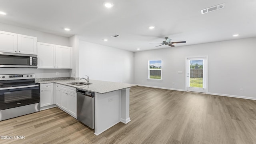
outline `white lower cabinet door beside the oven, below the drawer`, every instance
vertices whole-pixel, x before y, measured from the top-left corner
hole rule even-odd
[[[42,89],[40,93],[40,107],[49,106],[53,104],[52,88]]]

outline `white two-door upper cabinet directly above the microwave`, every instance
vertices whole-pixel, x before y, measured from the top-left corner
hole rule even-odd
[[[0,52],[37,54],[36,37],[0,31]]]

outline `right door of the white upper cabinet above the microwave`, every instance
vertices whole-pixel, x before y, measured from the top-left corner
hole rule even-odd
[[[36,37],[18,34],[18,53],[37,54]]]

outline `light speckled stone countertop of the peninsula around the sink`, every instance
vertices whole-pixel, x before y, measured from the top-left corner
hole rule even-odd
[[[119,82],[107,82],[107,81],[101,81],[101,80],[90,80],[89,85],[84,86],[76,86],[72,84],[67,84],[69,82],[86,82],[86,80],[48,80],[48,81],[37,81],[40,84],[48,84],[48,83],[57,83],[57,84],[63,84],[66,86],[72,86],[74,88],[81,88],[84,90],[88,90],[91,92],[97,92],[100,94],[104,94],[107,92],[113,92],[116,90],[121,90],[124,88],[130,88],[132,86],[137,86],[137,84],[126,84],[126,83],[119,83]]]

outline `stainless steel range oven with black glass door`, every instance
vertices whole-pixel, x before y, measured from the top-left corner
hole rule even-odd
[[[34,74],[0,75],[0,120],[40,110],[40,84]]]

